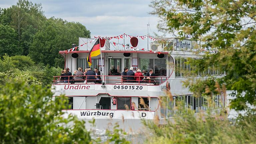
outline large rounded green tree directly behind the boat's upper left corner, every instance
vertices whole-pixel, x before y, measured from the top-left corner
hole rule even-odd
[[[50,66],[63,66],[64,59],[58,53],[71,48],[78,37],[90,37],[90,32],[80,23],[50,18],[36,33],[29,48],[29,56],[37,62]],[[55,60],[58,62],[56,63]]]

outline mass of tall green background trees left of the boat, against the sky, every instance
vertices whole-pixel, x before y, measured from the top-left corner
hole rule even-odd
[[[34,62],[64,68],[59,50],[90,37],[80,23],[44,16],[41,4],[19,0],[0,12],[0,56],[29,55]]]

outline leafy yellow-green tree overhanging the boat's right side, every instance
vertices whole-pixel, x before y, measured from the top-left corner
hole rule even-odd
[[[154,8],[152,14],[161,19],[160,30],[181,37],[189,34],[205,43],[205,47],[218,50],[217,54],[205,55],[203,61],[197,62],[197,67],[199,70],[208,69],[209,64],[225,67],[227,76],[216,81],[220,87],[236,92],[233,93],[236,98],[231,101],[231,108],[244,110],[248,108],[247,103],[256,105],[254,0],[155,0],[151,7]],[[213,84],[207,87],[216,89]],[[203,85],[201,92],[207,87]]]

